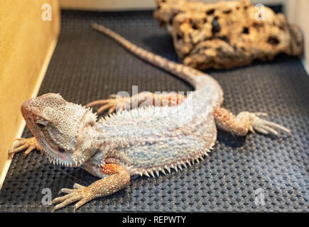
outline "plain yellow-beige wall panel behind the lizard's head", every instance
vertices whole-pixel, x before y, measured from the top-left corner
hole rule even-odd
[[[52,20],[43,21],[43,4]],[[35,96],[60,31],[58,0],[0,1],[0,176],[21,132],[23,101]],[[1,179],[0,179],[1,187]]]

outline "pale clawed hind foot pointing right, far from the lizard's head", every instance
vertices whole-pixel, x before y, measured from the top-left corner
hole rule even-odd
[[[286,133],[291,133],[288,128],[285,128],[277,123],[273,123],[271,121],[266,121],[259,116],[267,116],[266,113],[251,113],[251,129],[250,131],[257,131],[266,135],[276,135],[278,136],[278,132],[276,130],[281,130]]]

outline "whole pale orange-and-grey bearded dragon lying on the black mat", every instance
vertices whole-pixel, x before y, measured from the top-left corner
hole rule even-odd
[[[222,89],[210,75],[143,50],[104,26],[94,24],[93,28],[143,60],[190,82],[195,91],[188,96],[142,92],[87,106],[65,101],[59,94],[43,94],[23,102],[21,113],[34,137],[18,139],[9,153],[26,148],[26,154],[43,150],[54,164],[82,167],[101,178],[87,187],[74,184],[73,189],[61,189],[66,195],[53,199],[57,205],[52,211],[77,201],[75,211],[87,201],[113,194],[129,184],[131,175],[154,177],[199,162],[215,145],[216,125],[240,136],[249,131],[289,133],[287,128],[260,118],[264,113],[243,111],[234,116],[222,108]],[[141,107],[145,97],[150,102]],[[134,108],[134,102],[139,108]],[[96,104],[103,104],[98,112],[120,111],[97,121],[88,107]]]

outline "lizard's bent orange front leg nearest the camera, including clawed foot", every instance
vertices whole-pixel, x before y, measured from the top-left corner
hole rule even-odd
[[[76,209],[87,203],[87,201],[113,194],[126,187],[130,182],[129,172],[120,165],[106,164],[100,169],[100,172],[102,175],[109,176],[99,179],[88,187],[74,184],[74,189],[61,189],[59,193],[67,193],[67,195],[53,199],[52,204],[59,204],[52,209],[52,212],[74,201],[78,201],[74,206],[73,211],[75,212]]]

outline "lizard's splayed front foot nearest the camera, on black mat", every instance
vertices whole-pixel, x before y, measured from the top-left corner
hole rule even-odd
[[[87,203],[87,201],[94,199],[94,194],[92,193],[90,187],[85,187],[80,184],[74,184],[73,188],[74,189],[64,188],[59,191],[59,194],[66,193],[66,195],[53,199],[52,204],[57,205],[52,209],[52,212],[67,206],[67,204],[71,204],[72,202],[78,201],[73,209],[73,211],[75,212],[76,209],[78,209],[83,204]]]

